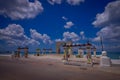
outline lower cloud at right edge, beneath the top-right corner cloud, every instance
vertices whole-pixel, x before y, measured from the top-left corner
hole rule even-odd
[[[94,38],[94,41],[99,41],[100,36],[107,42],[120,42],[120,26],[108,26],[102,28],[97,32],[97,37]]]

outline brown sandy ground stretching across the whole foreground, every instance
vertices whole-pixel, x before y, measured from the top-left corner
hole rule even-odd
[[[0,80],[120,80],[120,64],[102,68],[64,65],[62,55],[57,54],[0,56]]]

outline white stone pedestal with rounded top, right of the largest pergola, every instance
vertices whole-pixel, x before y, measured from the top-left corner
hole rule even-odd
[[[100,66],[104,67],[104,66],[111,66],[111,60],[109,57],[107,57],[107,52],[103,51],[102,52],[102,56],[100,58]]]

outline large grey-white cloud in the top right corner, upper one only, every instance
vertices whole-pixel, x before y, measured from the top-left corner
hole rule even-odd
[[[98,13],[92,23],[96,27],[108,25],[120,25],[120,0],[110,2],[103,13]]]

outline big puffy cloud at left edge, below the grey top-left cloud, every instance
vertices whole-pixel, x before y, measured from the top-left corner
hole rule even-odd
[[[0,40],[12,46],[27,46],[32,44],[39,45],[38,41],[30,39],[24,34],[24,28],[18,24],[9,24],[6,28],[0,29]]]

